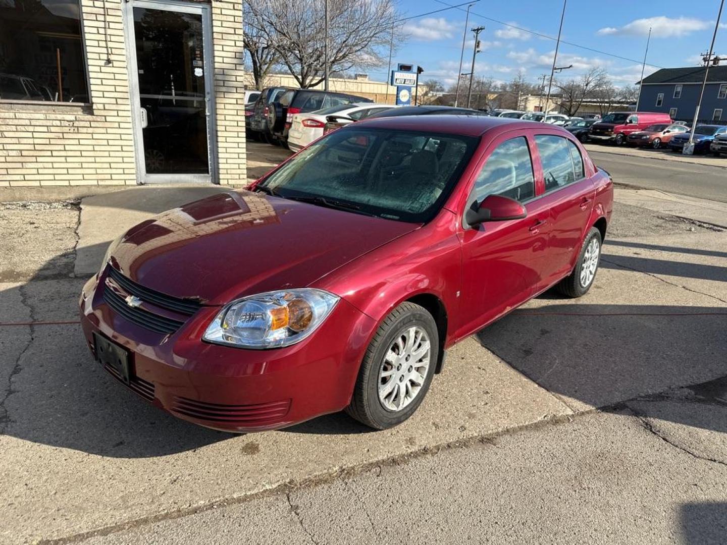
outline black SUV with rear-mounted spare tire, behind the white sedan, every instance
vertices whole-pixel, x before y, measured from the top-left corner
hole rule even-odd
[[[374,102],[355,94],[318,91],[317,89],[288,89],[268,109],[268,127],[278,142],[288,146],[288,133],[296,113],[308,113],[352,102]]]

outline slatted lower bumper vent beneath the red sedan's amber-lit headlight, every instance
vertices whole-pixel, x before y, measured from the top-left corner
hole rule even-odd
[[[258,427],[280,421],[290,409],[290,400],[256,405],[222,405],[204,403],[188,397],[175,397],[172,411],[194,419]]]

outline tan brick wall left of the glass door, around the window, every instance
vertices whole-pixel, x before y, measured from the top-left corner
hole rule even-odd
[[[81,0],[92,111],[79,105],[0,103],[0,187],[135,184],[121,2]]]

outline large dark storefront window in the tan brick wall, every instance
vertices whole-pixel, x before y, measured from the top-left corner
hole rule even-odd
[[[0,100],[89,102],[79,0],[0,0]]]

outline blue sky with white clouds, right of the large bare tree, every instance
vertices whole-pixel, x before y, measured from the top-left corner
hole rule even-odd
[[[463,0],[444,0],[459,4]],[[688,9],[689,6],[699,9]],[[400,0],[404,16],[419,15],[447,7],[437,0]],[[469,28],[483,25],[483,52],[477,56],[476,76],[489,76],[509,81],[518,70],[535,83],[542,74],[550,74],[555,40],[518,31],[483,17],[510,23],[520,28],[558,35],[562,0],[480,0],[470,9]],[[455,81],[465,27],[466,5],[448,9],[405,23],[406,38],[395,52],[396,62],[413,62],[425,69],[422,79],[437,78],[448,84]],[[563,23],[564,41],[572,42],[619,57],[604,55],[563,44],[558,52],[558,65],[574,65],[563,71],[563,78],[579,76],[592,66],[602,66],[616,85],[638,81],[646,35],[651,26],[651,45],[646,73],[657,67],[675,68],[699,65],[699,54],[707,52],[719,9],[719,0],[686,2],[684,0],[569,0]],[[715,52],[727,55],[727,13],[717,36]],[[468,32],[465,63],[462,72],[470,71],[472,33]],[[369,71],[372,79],[385,78],[386,68]]]

